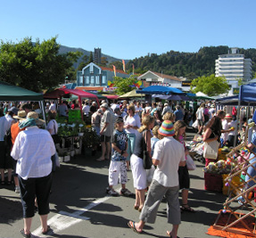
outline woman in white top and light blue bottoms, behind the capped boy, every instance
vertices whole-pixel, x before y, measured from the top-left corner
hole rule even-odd
[[[132,155],[136,142],[136,135],[138,135],[137,129],[140,127],[140,118],[135,113],[134,104],[128,105],[128,115],[125,117],[124,128],[128,134],[128,158],[127,158],[127,169],[129,169],[129,160]]]

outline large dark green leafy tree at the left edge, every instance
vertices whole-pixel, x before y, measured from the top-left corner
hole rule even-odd
[[[18,44],[1,41],[0,80],[40,92],[65,81],[79,53],[59,54],[56,37],[39,43],[24,38]]]

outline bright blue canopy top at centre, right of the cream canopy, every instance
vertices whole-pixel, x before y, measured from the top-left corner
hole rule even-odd
[[[137,94],[185,94],[180,89],[170,86],[147,86],[136,90]]]

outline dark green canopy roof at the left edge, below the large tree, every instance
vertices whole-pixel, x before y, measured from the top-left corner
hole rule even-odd
[[[43,99],[43,94],[0,81],[0,101],[41,101]]]

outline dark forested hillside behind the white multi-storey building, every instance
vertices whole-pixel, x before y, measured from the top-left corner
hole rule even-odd
[[[127,64],[127,69],[135,72],[144,73],[147,70],[162,72],[163,74],[174,75],[177,77],[197,78],[203,75],[215,73],[215,60],[219,54],[228,53],[228,46],[202,47],[198,53],[179,53],[169,51],[167,53],[151,53],[145,57],[136,58]],[[256,49],[239,48],[239,53],[243,53],[245,58],[252,59],[252,75],[256,72]]]

